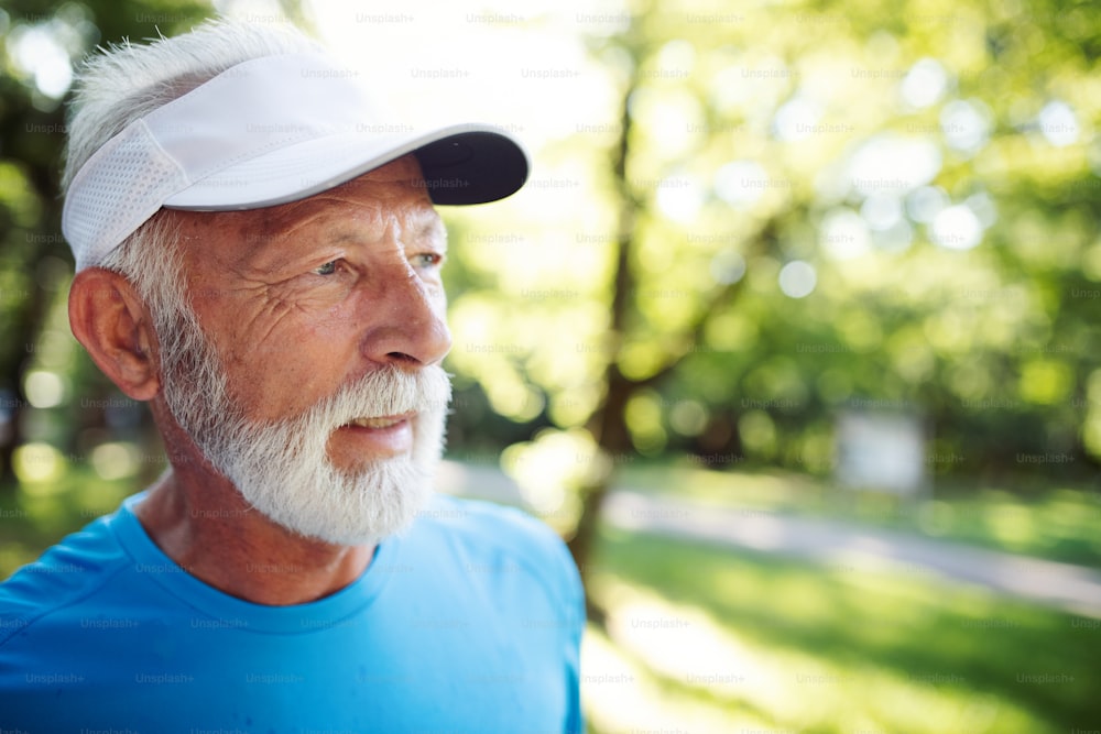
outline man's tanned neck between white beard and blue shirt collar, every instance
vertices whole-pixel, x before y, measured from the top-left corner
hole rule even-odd
[[[333,545],[276,525],[198,456],[174,458],[135,512],[153,543],[188,573],[257,604],[328,596],[358,579],[374,552],[371,546]]]

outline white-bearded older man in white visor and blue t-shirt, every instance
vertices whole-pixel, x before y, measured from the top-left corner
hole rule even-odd
[[[408,132],[294,33],[212,23],[83,73],[69,318],[171,468],[0,585],[0,728],[577,732],[584,604],[517,511],[434,495],[435,205],[504,132]]]

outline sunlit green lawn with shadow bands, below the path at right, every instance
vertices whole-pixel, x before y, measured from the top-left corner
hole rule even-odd
[[[592,573],[596,732],[1101,730],[1099,620],[611,528]]]

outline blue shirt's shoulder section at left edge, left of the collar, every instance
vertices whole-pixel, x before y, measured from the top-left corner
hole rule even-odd
[[[67,536],[0,583],[0,647],[51,614],[95,594],[126,568],[126,555],[101,517]]]

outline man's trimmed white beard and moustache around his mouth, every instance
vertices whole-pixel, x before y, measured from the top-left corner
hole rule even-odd
[[[244,500],[274,523],[338,545],[373,545],[406,529],[432,495],[451,386],[439,366],[383,368],[305,413],[246,420],[220,360],[192,315],[163,346],[164,397],[176,423]],[[356,418],[415,412],[413,450],[340,471],[327,443]]]

